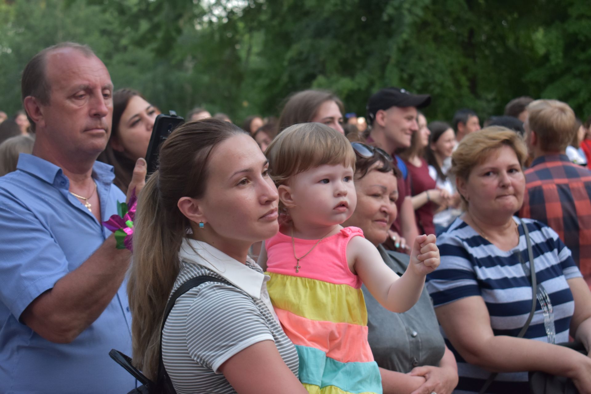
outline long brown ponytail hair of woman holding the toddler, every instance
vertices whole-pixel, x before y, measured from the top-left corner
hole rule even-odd
[[[158,171],[139,194],[127,291],[133,315],[132,358],[151,379],[157,374],[164,308],[179,271],[178,250],[190,230],[178,200],[203,196],[210,152],[241,133],[246,132],[216,119],[184,123],[161,146]]]

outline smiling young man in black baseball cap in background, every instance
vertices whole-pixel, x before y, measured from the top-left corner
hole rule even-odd
[[[400,237],[411,245],[418,235],[413,200],[411,198],[410,176],[404,162],[395,156],[399,148],[408,148],[413,133],[418,131],[417,108],[424,108],[431,103],[429,95],[413,95],[399,87],[387,87],[369,97],[367,121],[369,134],[367,142],[381,146],[395,157],[402,177],[398,179],[398,216],[392,224],[392,240],[395,248],[407,252]],[[399,249],[400,248],[400,249]]]

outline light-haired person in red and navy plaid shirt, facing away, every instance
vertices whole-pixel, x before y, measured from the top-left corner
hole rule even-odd
[[[525,171],[519,216],[552,227],[591,286],[591,171],[565,154],[577,132],[574,112],[557,100],[535,100],[527,110],[524,129],[534,161]]]

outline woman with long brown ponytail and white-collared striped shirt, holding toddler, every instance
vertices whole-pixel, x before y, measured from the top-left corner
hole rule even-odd
[[[178,394],[306,393],[298,357],[268,298],[268,277],[247,256],[278,231],[277,189],[248,133],[205,119],[179,126],[139,194],[128,282],[133,359],[157,375],[158,354]],[[180,298],[160,327],[170,294]],[[256,360],[253,362],[253,360]]]

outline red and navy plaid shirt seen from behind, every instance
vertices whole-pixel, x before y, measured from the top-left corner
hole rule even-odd
[[[519,216],[540,220],[556,231],[591,285],[591,171],[566,155],[536,158],[525,171]]]

